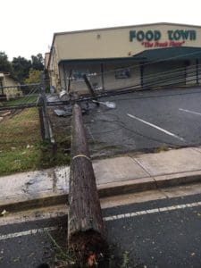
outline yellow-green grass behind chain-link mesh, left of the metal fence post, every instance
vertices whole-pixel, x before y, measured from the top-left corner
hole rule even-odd
[[[41,142],[38,108],[0,112],[0,174],[35,169]]]

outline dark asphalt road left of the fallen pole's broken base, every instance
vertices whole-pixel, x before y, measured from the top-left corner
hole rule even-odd
[[[0,267],[37,268],[53,263],[59,253],[53,239],[64,248],[66,237],[66,217],[0,226]]]

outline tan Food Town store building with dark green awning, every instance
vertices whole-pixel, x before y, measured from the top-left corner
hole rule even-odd
[[[201,82],[201,27],[174,23],[55,33],[46,64],[57,90],[159,88]]]

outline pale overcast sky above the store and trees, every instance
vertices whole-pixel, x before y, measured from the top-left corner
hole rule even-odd
[[[198,0],[2,0],[0,51],[45,54],[54,32],[174,22],[201,26]]]

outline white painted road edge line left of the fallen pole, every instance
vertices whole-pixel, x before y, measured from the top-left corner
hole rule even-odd
[[[15,239],[23,236],[28,236],[28,235],[33,235],[33,234],[38,234],[42,232],[48,232],[52,230],[57,230],[58,227],[46,227],[46,228],[40,228],[40,229],[32,229],[32,230],[24,230],[24,231],[19,231],[19,232],[13,232],[13,233],[8,233],[5,235],[0,235],[0,241],[5,240],[5,239]]]

